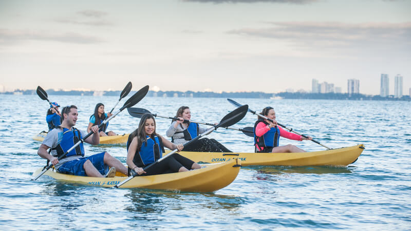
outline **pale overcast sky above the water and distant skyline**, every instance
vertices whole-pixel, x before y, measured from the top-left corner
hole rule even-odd
[[[411,88],[410,0],[0,0],[0,91]]]

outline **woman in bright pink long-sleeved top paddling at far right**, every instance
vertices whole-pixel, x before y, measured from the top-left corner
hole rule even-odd
[[[264,108],[260,114],[273,120],[274,122],[258,117],[258,120],[254,124],[255,152],[305,152],[303,149],[291,144],[279,146],[279,137],[299,141],[312,140],[311,137],[306,139],[300,135],[278,127],[277,121],[275,121],[275,111],[272,107]]]

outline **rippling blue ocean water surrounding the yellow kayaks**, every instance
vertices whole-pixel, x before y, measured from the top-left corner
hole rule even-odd
[[[97,103],[109,111],[118,97],[49,95],[60,105],[79,107],[77,128],[86,129]],[[229,186],[208,194],[83,186],[41,177],[45,165],[32,137],[47,129],[48,103],[37,95],[1,95],[0,227],[3,230],[101,229],[354,229],[409,230],[411,227],[411,103],[387,101],[233,99],[260,111],[273,106],[277,121],[332,147],[364,144],[347,167],[242,167]],[[117,109],[123,105],[120,102]],[[174,116],[190,106],[192,119],[214,123],[235,109],[226,99],[144,98],[142,107]],[[255,115],[233,127],[253,126]],[[158,118],[164,135],[170,120]],[[129,133],[138,119],[123,111],[109,130]],[[252,152],[252,138],[218,129],[209,138],[233,151]],[[282,138],[307,151],[325,148]],[[125,162],[124,145],[91,146],[86,155],[108,151]]]

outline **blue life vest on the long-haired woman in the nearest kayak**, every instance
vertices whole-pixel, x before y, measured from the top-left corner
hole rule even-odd
[[[146,136],[147,142],[141,145],[140,151],[136,150],[133,162],[137,167],[147,166],[163,156],[163,143],[157,136],[154,136],[154,140],[149,136]],[[127,151],[130,142],[127,142]]]

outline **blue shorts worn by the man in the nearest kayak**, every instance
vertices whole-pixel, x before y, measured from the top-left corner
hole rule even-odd
[[[91,163],[97,168],[101,175],[106,174],[108,171],[108,165],[104,164],[104,152],[89,156],[89,157],[82,157],[77,160],[68,161],[62,164],[58,171],[63,174],[69,175],[76,175],[76,176],[84,176],[86,177],[86,171],[83,168],[84,163],[87,160],[90,160]]]

